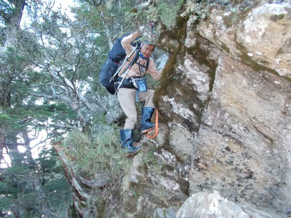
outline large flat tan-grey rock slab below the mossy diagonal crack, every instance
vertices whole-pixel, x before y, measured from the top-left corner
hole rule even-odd
[[[198,131],[190,193],[215,189],[238,202],[290,210],[289,86],[221,57]]]

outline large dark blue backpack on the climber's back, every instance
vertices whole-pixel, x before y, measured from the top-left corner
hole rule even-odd
[[[117,76],[114,79],[111,79],[115,72],[118,70],[119,66],[123,63],[124,59],[126,58],[126,52],[121,45],[121,40],[131,34],[128,32],[121,37],[118,37],[115,41],[113,47],[108,52],[108,58],[106,62],[102,65],[99,73],[99,82],[106,88],[106,90],[111,93],[115,94],[114,82],[117,80]],[[135,40],[139,39],[137,37]],[[136,42],[133,40],[131,42],[131,46],[136,47]],[[137,44],[137,47],[140,46],[140,43]],[[146,66],[147,69],[148,66]]]

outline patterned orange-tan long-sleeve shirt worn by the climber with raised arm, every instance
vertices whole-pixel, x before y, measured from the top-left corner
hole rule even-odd
[[[124,48],[124,50],[126,51],[126,55],[127,57],[129,56],[129,54],[132,52],[132,50],[134,49],[133,46],[130,45],[130,43],[138,36],[137,32],[131,33],[128,36],[125,36],[122,41],[121,41],[121,45]],[[125,74],[127,67],[129,65],[129,63],[131,62],[131,60],[134,58],[135,53],[131,55],[131,57],[129,58],[128,63],[126,63],[122,69],[120,70],[118,76],[120,77],[123,72]],[[139,59],[137,60],[138,63],[140,63],[141,65],[146,66],[147,60],[143,60],[142,58],[139,57]],[[127,75],[125,78],[129,78],[129,77],[142,77],[145,75],[145,72],[140,72],[140,69],[144,68],[139,66],[137,63],[134,63],[131,68],[129,69]],[[146,68],[144,68],[145,70]],[[155,65],[154,60],[150,57],[149,58],[149,64],[148,64],[148,68],[146,73],[149,73],[151,75],[151,77],[154,80],[159,80],[162,77],[162,70],[158,71]],[[142,74],[142,75],[141,75]],[[122,75],[121,77],[124,77],[124,75]]]

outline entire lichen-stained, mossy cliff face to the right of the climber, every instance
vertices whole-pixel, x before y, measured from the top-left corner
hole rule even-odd
[[[175,52],[155,96],[163,125],[124,179],[127,217],[211,217],[202,198],[223,205],[212,217],[291,214],[291,3],[209,9],[164,34]]]

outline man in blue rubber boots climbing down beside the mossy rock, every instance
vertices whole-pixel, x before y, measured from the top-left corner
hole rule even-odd
[[[139,36],[139,32],[136,31],[122,39],[121,45],[126,51],[127,56],[129,56],[129,54],[135,49],[135,47],[130,45],[130,43]],[[151,123],[151,117],[155,110],[153,104],[153,95],[155,91],[147,89],[144,78],[146,73],[149,73],[156,81],[162,76],[162,69],[158,71],[154,60],[150,57],[154,49],[154,41],[142,42],[140,50],[136,51],[139,53],[137,55],[131,55],[129,58],[129,62],[135,58],[134,63],[131,66],[124,65],[122,67],[118,74],[119,78],[115,84],[120,106],[127,116],[124,129],[120,130],[120,140],[123,149],[127,149],[129,154],[134,154],[141,149],[140,146],[134,147],[132,145],[133,128],[137,122],[135,101],[145,102],[145,105],[142,108],[141,117],[142,134],[146,134],[155,127],[155,124]]]

